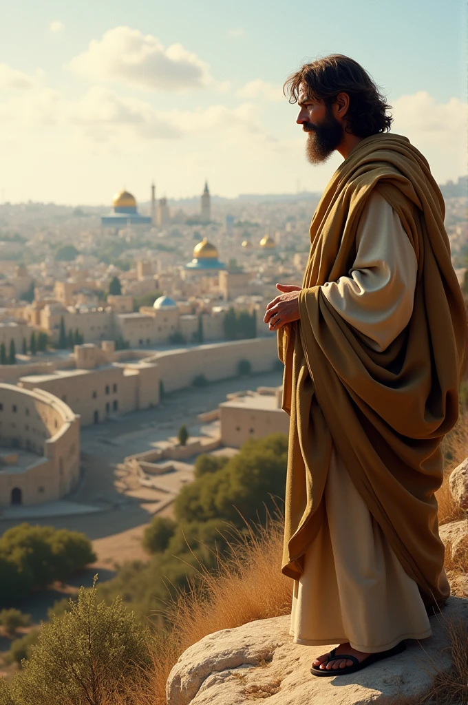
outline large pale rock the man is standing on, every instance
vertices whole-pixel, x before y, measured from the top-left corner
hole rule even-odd
[[[293,644],[290,616],[257,620],[214,632],[190,646],[171,670],[168,705],[245,705],[269,699],[269,705],[388,704],[402,692],[420,696],[431,687],[433,667],[450,668],[447,621],[468,620],[468,600],[450,597],[441,613],[429,618],[433,636],[350,675],[316,678],[314,657],[328,646]]]

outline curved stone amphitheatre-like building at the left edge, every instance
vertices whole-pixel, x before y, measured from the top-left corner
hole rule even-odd
[[[0,507],[67,494],[80,474],[80,417],[42,389],[0,384]]]

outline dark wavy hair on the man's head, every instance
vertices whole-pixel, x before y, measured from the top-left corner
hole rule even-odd
[[[367,71],[348,56],[331,54],[304,63],[283,85],[283,93],[290,103],[297,103],[301,92],[327,106],[335,102],[338,93],[347,93],[350,97],[345,116],[347,133],[369,137],[390,130],[393,118],[387,111],[391,105],[386,103],[386,97]]]

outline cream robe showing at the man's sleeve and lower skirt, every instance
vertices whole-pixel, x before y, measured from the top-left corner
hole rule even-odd
[[[322,290],[367,345],[382,351],[410,320],[417,259],[400,217],[377,192],[359,219],[356,245],[350,276]],[[293,584],[293,641],[350,642],[373,653],[402,639],[430,637],[416,582],[403,570],[335,448],[323,501],[324,524]]]

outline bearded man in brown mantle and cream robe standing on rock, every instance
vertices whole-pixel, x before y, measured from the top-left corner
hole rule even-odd
[[[422,154],[388,133],[390,106],[366,71],[327,56],[285,90],[309,161],[344,158],[312,219],[302,287],[277,284],[264,317],[290,414],[290,634],[340,642],[311,672],[341,675],[430,637],[450,594],[434,492],[467,317],[441,192]]]

